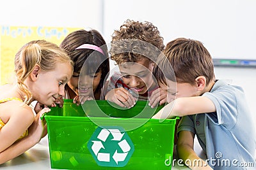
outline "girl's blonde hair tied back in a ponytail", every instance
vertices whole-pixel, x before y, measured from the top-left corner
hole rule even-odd
[[[24,92],[24,103],[27,104],[32,97],[24,81],[36,64],[40,66],[42,71],[52,71],[56,69],[58,63],[63,62],[71,64],[73,68],[73,62],[65,50],[45,40],[31,41],[20,48],[15,55],[15,73],[17,85]]]

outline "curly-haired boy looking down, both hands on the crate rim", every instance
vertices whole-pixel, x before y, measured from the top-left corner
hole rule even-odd
[[[152,70],[163,50],[163,38],[150,22],[127,20],[113,33],[111,59],[120,73],[109,81],[106,99],[124,108],[131,108],[136,100],[149,100],[154,108],[166,102],[166,92],[159,89]]]

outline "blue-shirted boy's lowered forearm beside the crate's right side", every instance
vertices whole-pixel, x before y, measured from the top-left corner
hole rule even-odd
[[[194,138],[195,134],[193,132],[179,132],[177,142],[177,153],[179,158],[182,159],[190,169],[212,169],[204,160],[200,159],[193,150]]]

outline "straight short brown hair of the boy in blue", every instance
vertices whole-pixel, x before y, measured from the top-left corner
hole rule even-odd
[[[198,76],[205,76],[206,85],[215,80],[212,57],[200,41],[177,38],[166,45],[163,54],[153,71],[159,83],[166,84],[165,78],[173,81],[173,72],[177,83],[194,85]]]

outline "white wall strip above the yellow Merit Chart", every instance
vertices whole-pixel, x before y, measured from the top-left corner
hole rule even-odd
[[[102,32],[102,1],[1,1],[0,25],[84,27]]]

